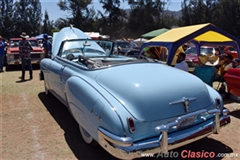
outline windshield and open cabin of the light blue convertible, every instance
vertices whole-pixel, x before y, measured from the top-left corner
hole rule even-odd
[[[109,47],[110,51],[108,53]],[[64,61],[71,61],[88,70],[104,69],[130,63],[156,63],[146,58],[138,59],[136,57],[112,54],[113,47],[113,41],[93,39],[65,40],[61,43],[57,57],[64,59]]]

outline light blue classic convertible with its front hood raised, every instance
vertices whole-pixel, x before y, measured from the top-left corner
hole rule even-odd
[[[66,105],[87,144],[134,159],[167,153],[230,123],[221,96],[196,76],[113,49],[114,42],[65,27],[53,36],[51,58],[40,63],[46,95]]]

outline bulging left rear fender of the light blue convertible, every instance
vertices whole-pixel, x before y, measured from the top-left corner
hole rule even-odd
[[[99,126],[114,128],[115,131],[111,130],[114,133],[123,133],[121,118],[92,83],[73,76],[67,80],[65,90],[71,114],[96,141]]]

